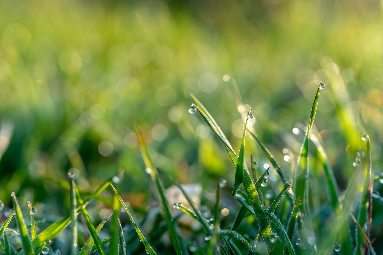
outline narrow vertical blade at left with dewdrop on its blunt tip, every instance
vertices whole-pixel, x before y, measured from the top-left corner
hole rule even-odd
[[[68,174],[69,185],[70,185],[70,248],[71,254],[74,255],[77,253],[78,245],[78,231],[77,231],[77,199],[76,199],[76,189],[74,184],[74,175],[72,173]]]

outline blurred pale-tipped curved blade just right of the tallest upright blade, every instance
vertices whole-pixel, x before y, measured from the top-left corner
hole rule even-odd
[[[313,134],[310,134],[310,140],[313,142],[314,149],[316,151],[316,158],[323,165],[324,173],[326,175],[326,184],[330,191],[329,193],[331,205],[332,208],[335,208],[336,204],[338,203],[339,189],[334,177],[334,171],[332,171],[326,152],[324,152],[324,149],[319,143],[318,138]]]

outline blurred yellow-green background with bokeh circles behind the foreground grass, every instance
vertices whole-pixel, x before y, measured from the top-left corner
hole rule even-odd
[[[3,212],[15,191],[21,204],[31,200],[40,203],[40,212],[66,215],[67,191],[55,181],[76,172],[79,187],[92,191],[121,168],[123,194],[146,206],[156,193],[148,191],[153,185],[136,124],[162,173],[182,183],[210,180],[202,181],[205,190],[220,176],[232,186],[234,168],[224,147],[197,114],[188,113],[190,93],[236,151],[240,113],[251,106],[254,130],[291,176],[303,141],[292,129],[307,124],[322,81],[314,132],[340,190],[347,187],[364,133],[371,137],[373,173],[379,175],[381,10],[379,1],[359,0],[1,1]],[[234,99],[234,79],[244,105]],[[250,140],[246,160],[252,152],[263,167],[267,160]],[[321,199],[321,180],[311,180]],[[372,237],[382,237],[381,227],[373,228]]]

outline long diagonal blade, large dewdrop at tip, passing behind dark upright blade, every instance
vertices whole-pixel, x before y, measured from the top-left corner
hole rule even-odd
[[[237,167],[238,157],[235,154],[234,150],[231,148],[231,145],[229,145],[229,142],[223,138],[224,137],[223,134],[221,134],[221,132],[217,132],[218,130],[220,130],[220,128],[214,124],[211,125],[211,123],[213,123],[211,119],[203,111],[201,111],[201,109],[198,106],[195,106],[195,107],[196,107],[196,110],[198,110],[198,112],[201,114],[203,119],[206,121],[206,123],[209,124],[211,129],[218,136],[218,138],[221,139],[221,141],[225,144],[226,149],[228,150],[229,155],[234,163],[234,166]],[[207,110],[205,111],[207,112]],[[244,176],[243,176],[242,183],[244,184],[246,192],[249,195],[249,198],[250,198],[252,206],[254,207],[254,210],[257,212],[255,214],[255,218],[257,219],[260,230],[262,232],[262,237],[266,244],[267,252],[275,253],[276,252],[275,245],[269,240],[269,237],[271,235],[270,225],[268,224],[268,220],[266,218],[265,212],[260,204],[259,195],[257,190],[255,189],[254,183],[251,181],[251,178],[245,169],[244,169]]]

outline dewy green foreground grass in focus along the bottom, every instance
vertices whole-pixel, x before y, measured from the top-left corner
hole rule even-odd
[[[150,224],[149,229],[145,219],[134,216],[132,208],[129,209],[127,202],[121,197],[121,185],[129,184],[123,181],[123,170],[116,173],[106,180],[93,193],[87,194],[87,199],[82,198],[84,192],[77,188],[75,175],[69,173],[69,185],[66,187],[70,194],[70,214],[67,217],[53,222],[50,226],[41,230],[41,219],[36,220],[36,209],[32,208],[28,201],[30,221],[26,221],[23,212],[18,203],[15,193],[11,194],[13,199],[14,211],[4,221],[0,229],[1,250],[0,254],[18,254],[27,255],[39,254],[58,254],[59,251],[49,251],[49,246],[54,242],[57,235],[64,233],[67,227],[70,228],[70,242],[68,244],[70,254],[90,254],[97,251],[99,254],[129,254],[141,253],[145,248],[148,254],[162,254],[165,250],[175,252],[176,254],[376,254],[373,247],[373,200],[381,199],[379,195],[373,193],[374,178],[372,175],[372,151],[370,137],[363,135],[365,149],[360,151],[360,158],[354,163],[354,170],[350,177],[348,188],[343,192],[339,191],[334,172],[325,153],[324,147],[318,141],[318,138],[311,132],[314,125],[314,118],[318,107],[319,95],[322,90],[320,83],[317,93],[314,96],[313,107],[311,108],[310,118],[308,120],[307,131],[304,134],[300,154],[296,160],[295,173],[293,176],[285,173],[276,158],[272,155],[267,146],[259,139],[254,131],[248,127],[249,119],[254,118],[252,110],[247,112],[244,119],[244,131],[242,135],[239,152],[236,154],[232,145],[224,135],[222,129],[213,119],[206,107],[193,95],[194,103],[190,107],[190,113],[198,112],[217,139],[222,142],[228,152],[228,157],[232,160],[233,169],[235,169],[234,180],[224,180],[220,178],[216,181],[215,200],[211,201],[211,208],[214,216],[205,215],[183,185],[172,176],[161,175],[155,167],[149,149],[147,148],[144,133],[140,127],[136,127],[136,135],[141,148],[141,154],[145,165],[145,171],[150,175],[153,184],[148,187],[155,187],[160,196],[163,214],[157,215],[157,223]],[[237,97],[238,98],[238,97]],[[248,132],[247,132],[248,131]],[[250,136],[246,136],[249,133]],[[271,178],[270,167],[259,172],[257,163],[251,154],[250,169],[246,167],[245,160],[245,141],[246,138],[253,138],[255,144],[259,145],[260,152],[268,159],[275,171],[273,175],[278,178]],[[313,147],[311,149],[310,147]],[[364,153],[364,154],[363,154]],[[317,199],[313,196],[310,188],[314,173],[313,163],[316,162],[322,167],[324,173],[322,179],[318,180],[327,187],[326,199],[319,204],[321,208],[316,208]],[[144,170],[142,170],[144,171]],[[250,177],[252,172],[253,179]],[[256,179],[256,177],[259,178]],[[166,195],[166,189],[162,179],[169,178],[171,182],[178,187],[180,192],[187,200],[188,205],[176,203],[173,208],[179,211],[171,211],[168,203],[169,197]],[[381,177],[380,177],[381,178]],[[115,182],[117,189],[111,183]],[[269,180],[269,181],[267,181]],[[376,178],[375,178],[376,180]],[[232,188],[226,183],[233,183]],[[243,189],[241,188],[243,185]],[[65,185],[64,185],[65,186]],[[114,211],[110,212],[102,222],[96,227],[92,222],[89,213],[89,204],[99,198],[103,191],[111,186],[113,201],[111,204]],[[282,188],[280,188],[282,187]],[[236,217],[229,221],[223,219],[221,210],[222,199],[228,188],[232,189],[232,196],[238,202],[234,212]],[[277,196],[267,195],[265,190],[277,191]],[[374,196],[373,196],[374,194]],[[226,194],[227,195],[227,194]],[[119,202],[119,203],[117,203]],[[271,203],[270,203],[271,202]],[[284,209],[281,208],[282,207]],[[92,204],[94,206],[94,204]],[[190,208],[188,208],[190,206]],[[124,214],[120,208],[126,212],[130,223],[121,224]],[[227,209],[227,208],[226,208]],[[231,209],[232,210],[232,209]],[[326,213],[325,213],[326,212]],[[353,215],[357,213],[358,217]],[[151,209],[141,212],[145,217],[152,213]],[[181,214],[186,214],[195,222],[198,222],[197,228],[191,229],[187,226],[181,226]],[[233,214],[233,212],[231,212]],[[83,227],[80,229],[78,223],[79,215],[82,215]],[[15,217],[14,217],[15,216]],[[108,221],[112,218],[112,222]],[[379,216],[378,216],[379,219]],[[380,218],[380,221],[383,219]],[[16,222],[16,227],[10,228],[10,224]],[[108,224],[108,222],[110,222]],[[111,226],[110,226],[111,225]],[[144,225],[146,227],[144,227]],[[320,227],[320,226],[325,227]],[[85,227],[86,226],[86,227]],[[133,226],[133,229],[128,226]],[[366,227],[362,227],[366,226]],[[377,226],[377,225],[375,225]],[[110,227],[110,230],[105,228]],[[128,227],[128,229],[126,229]],[[180,229],[183,229],[181,231]],[[354,229],[354,233],[352,229]],[[136,234],[134,234],[133,232]],[[188,234],[184,234],[187,231]],[[79,247],[81,238],[79,234],[90,233],[90,236],[82,240],[82,247]],[[13,239],[13,233],[18,234],[18,239]],[[101,240],[100,234],[107,235]],[[158,239],[169,236],[168,247],[159,245]],[[192,238],[191,238],[192,237]],[[203,238],[201,238],[203,237]],[[201,241],[205,239],[205,241]],[[138,244],[135,240],[140,240]],[[65,248],[64,248],[65,250]]]

